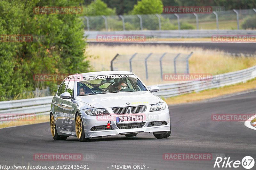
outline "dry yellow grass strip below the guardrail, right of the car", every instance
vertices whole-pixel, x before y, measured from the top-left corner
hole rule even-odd
[[[227,95],[227,94],[241,92],[244,90],[255,89],[255,88],[256,88],[256,79],[253,79],[245,83],[238,83],[235,85],[225,86],[218,89],[209,89],[209,90],[204,90],[196,93],[189,93],[181,96],[174,96],[174,97],[164,99],[164,101],[167,104],[188,103],[188,102],[209,99],[213,97],[218,97],[222,95]]]

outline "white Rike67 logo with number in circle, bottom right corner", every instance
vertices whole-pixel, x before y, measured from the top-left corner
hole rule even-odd
[[[223,161],[223,162],[222,162]],[[245,156],[242,161],[240,160],[230,160],[230,157],[225,157],[224,159],[221,157],[217,157],[214,163],[214,168],[238,168],[239,166],[243,166],[245,169],[251,169],[254,166],[254,159],[251,156]]]

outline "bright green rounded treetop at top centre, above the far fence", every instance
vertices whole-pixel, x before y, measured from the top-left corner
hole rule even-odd
[[[163,3],[161,0],[141,0],[134,5],[132,13],[136,14],[161,14],[163,12]]]

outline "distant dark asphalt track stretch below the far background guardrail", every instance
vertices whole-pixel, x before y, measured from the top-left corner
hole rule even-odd
[[[89,44],[100,44],[107,46],[116,45],[167,45],[167,46],[184,46],[184,47],[200,47],[203,49],[221,50],[226,53],[244,53],[244,54],[255,54],[256,43],[213,43],[213,42],[141,42],[141,43],[127,43],[127,42],[90,42]]]

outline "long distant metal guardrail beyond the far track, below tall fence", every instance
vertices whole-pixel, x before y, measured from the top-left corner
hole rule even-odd
[[[154,41],[168,38],[211,38],[212,35],[255,35],[256,30],[135,30],[135,31],[84,31],[84,37],[95,39],[97,35],[145,35]],[[96,42],[104,42],[97,41]],[[125,41],[122,41],[125,42]],[[130,41],[132,42],[132,41]],[[144,42],[150,42],[146,40]]]

